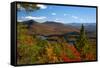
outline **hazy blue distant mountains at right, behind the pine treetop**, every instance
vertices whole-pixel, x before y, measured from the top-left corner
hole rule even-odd
[[[68,23],[65,25],[73,26],[74,28],[81,28],[82,23]],[[96,39],[96,23],[83,23],[85,32],[89,38]]]

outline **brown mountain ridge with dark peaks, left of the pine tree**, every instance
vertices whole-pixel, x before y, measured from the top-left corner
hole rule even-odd
[[[73,26],[65,26],[60,22],[46,21],[44,23],[38,23],[34,20],[25,21],[23,23],[27,23],[31,25],[31,31],[33,33],[39,35],[52,35],[52,34],[64,34],[67,32],[79,32],[77,28]]]

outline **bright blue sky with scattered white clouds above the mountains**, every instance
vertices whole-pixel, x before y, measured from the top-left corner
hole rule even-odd
[[[96,8],[37,4],[39,10],[17,11],[17,21],[55,21],[60,23],[96,23]]]

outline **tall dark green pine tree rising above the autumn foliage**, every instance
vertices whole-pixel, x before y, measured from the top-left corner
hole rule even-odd
[[[80,29],[79,38],[76,41],[75,47],[80,52],[82,58],[85,58],[86,54],[89,52],[89,41],[85,33],[84,25],[82,24]]]

